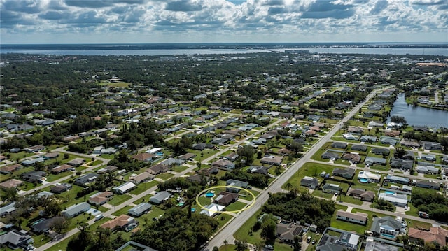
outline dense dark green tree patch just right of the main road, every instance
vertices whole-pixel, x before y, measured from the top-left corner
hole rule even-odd
[[[301,194],[269,194],[267,203],[262,206],[263,213],[280,216],[292,222],[316,224],[318,231],[330,226],[332,214],[335,213],[334,201],[318,199],[308,192]]]

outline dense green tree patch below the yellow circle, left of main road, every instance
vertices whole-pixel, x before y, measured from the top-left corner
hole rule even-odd
[[[169,208],[159,220],[148,224],[132,237],[133,241],[148,245],[155,250],[200,250],[218,227],[214,218],[188,213],[181,208]]]

